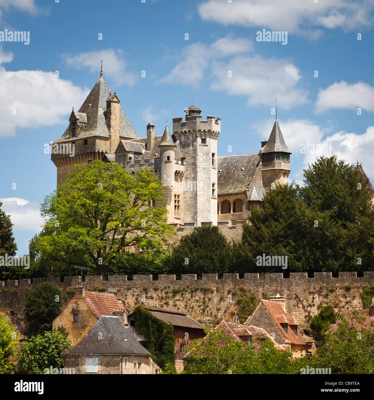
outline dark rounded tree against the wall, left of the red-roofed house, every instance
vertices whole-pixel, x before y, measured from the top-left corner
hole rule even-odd
[[[62,308],[62,292],[56,285],[43,282],[32,288],[25,298],[26,335],[52,330],[52,322]]]

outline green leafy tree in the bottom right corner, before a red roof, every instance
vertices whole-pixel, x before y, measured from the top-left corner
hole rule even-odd
[[[368,374],[374,370],[374,321],[370,330],[364,324],[362,311],[352,311],[348,320],[341,318],[336,331],[324,336],[325,345],[316,349],[310,359],[302,360],[304,368],[331,368],[332,374]],[[356,329],[357,328],[357,329]]]

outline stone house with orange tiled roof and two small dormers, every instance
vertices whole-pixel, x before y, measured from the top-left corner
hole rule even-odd
[[[312,343],[304,340],[298,330],[299,324],[286,312],[284,296],[277,294],[270,297],[270,300],[260,300],[244,325],[252,324],[266,330],[278,344],[290,346],[292,356],[312,354]]]

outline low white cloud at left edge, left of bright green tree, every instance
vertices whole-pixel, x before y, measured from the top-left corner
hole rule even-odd
[[[36,202],[29,202],[20,197],[1,198],[0,202],[3,203],[2,210],[6,215],[10,215],[12,221],[13,231],[19,230],[35,230],[40,232],[44,220],[40,215],[40,204]]]

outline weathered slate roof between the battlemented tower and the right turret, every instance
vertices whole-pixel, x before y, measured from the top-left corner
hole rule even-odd
[[[243,193],[246,184],[251,183],[256,176],[260,164],[260,154],[239,154],[237,156],[218,157],[218,196]],[[242,171],[242,168],[244,170]]]

